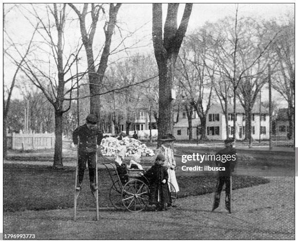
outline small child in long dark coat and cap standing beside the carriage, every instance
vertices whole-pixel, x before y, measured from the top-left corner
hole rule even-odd
[[[149,180],[150,195],[149,203],[155,204],[156,210],[164,211],[170,202],[168,189],[168,169],[164,166],[165,156],[159,154],[154,165],[144,175]]]

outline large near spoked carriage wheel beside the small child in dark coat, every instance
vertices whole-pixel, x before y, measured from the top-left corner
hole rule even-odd
[[[122,190],[122,203],[131,212],[144,210],[149,203],[149,188],[141,180],[132,179]]]

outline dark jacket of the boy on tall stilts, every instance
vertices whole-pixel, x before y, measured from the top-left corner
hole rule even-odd
[[[97,139],[96,139],[97,137]],[[96,126],[95,128],[89,129],[87,124],[79,126],[73,132],[74,144],[79,143],[79,152],[92,153],[96,151],[96,145],[100,146],[101,140],[103,138],[102,132]]]

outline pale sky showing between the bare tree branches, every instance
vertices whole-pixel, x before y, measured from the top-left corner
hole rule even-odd
[[[79,9],[82,4],[75,4]],[[181,19],[185,4],[180,4],[178,19]],[[5,10],[10,9],[12,4],[5,4]],[[26,8],[28,4],[24,4]],[[38,7],[42,9],[44,5],[39,4]],[[234,3],[195,3],[191,17],[189,20],[187,33],[199,28],[208,22],[215,22],[226,16],[234,16],[236,11],[236,4]],[[29,21],[22,16],[24,9],[19,4],[19,8],[13,8],[5,17],[5,30],[13,39],[17,39],[20,43],[26,43],[33,31],[33,27]],[[68,26],[66,26],[65,44],[66,49],[71,51],[75,47],[74,40],[80,36],[78,21],[73,10],[67,6],[68,18],[73,19]],[[41,17],[45,17],[45,12],[38,11]],[[163,4],[163,19],[166,18],[167,4]],[[261,19],[281,19],[285,15],[294,15],[294,3],[240,3],[239,4],[239,17],[254,17],[261,21]],[[129,32],[133,32],[126,41],[126,46],[131,46],[135,42],[138,42],[134,49],[129,52],[118,52],[110,57],[110,61],[115,61],[122,56],[132,55],[133,53],[153,53],[153,47],[151,43],[151,23],[152,18],[152,4],[151,3],[123,3],[121,6],[117,20],[119,26],[122,28],[123,35],[127,35]],[[30,17],[30,20],[34,22],[34,18]],[[103,45],[103,21],[98,22],[97,31],[94,36],[94,52],[99,51]],[[4,35],[5,38],[5,35]],[[112,37],[112,48],[121,40],[120,35],[114,35]],[[82,58],[85,58],[85,53],[82,52]],[[14,66],[9,63],[9,60],[4,58],[4,74],[5,84],[9,84],[12,76]],[[265,90],[264,90],[265,91]],[[18,97],[19,91],[16,89],[13,97]]]

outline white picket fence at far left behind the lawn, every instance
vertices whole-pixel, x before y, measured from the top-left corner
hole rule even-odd
[[[51,149],[55,146],[54,133],[8,134],[9,149]]]

